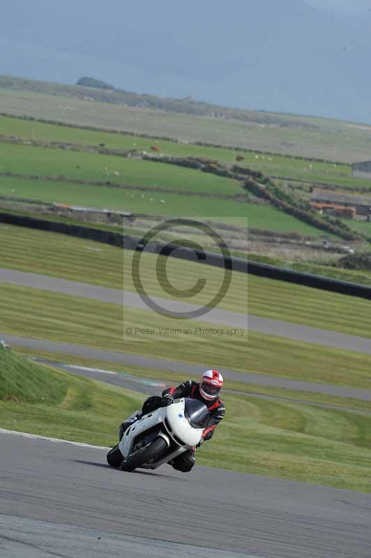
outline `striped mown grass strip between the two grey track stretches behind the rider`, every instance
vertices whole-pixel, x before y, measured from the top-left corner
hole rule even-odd
[[[0,303],[0,331],[4,333],[174,361],[218,363],[221,368],[241,372],[371,387],[371,359],[365,354],[253,332],[248,338],[195,332],[196,326],[208,328],[207,322],[194,322],[190,333],[164,333],[160,327],[179,328],[179,320],[128,307],[123,316],[123,309],[114,304],[6,283],[1,285]],[[130,326],[132,334],[123,338],[123,326]],[[148,327],[153,333],[135,334],[136,327]]]

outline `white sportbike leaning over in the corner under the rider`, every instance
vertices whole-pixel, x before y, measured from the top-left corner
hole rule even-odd
[[[135,420],[119,444],[109,450],[107,462],[123,471],[157,469],[197,446],[208,420],[209,410],[201,401],[176,399]]]

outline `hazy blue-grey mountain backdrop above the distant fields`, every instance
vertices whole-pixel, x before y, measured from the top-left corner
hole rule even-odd
[[[363,122],[369,37],[370,14],[334,16],[303,0],[189,0],[181,15],[171,0],[13,0],[1,13],[1,71]]]

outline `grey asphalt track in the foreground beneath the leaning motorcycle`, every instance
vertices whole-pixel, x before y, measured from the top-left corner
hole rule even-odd
[[[0,434],[1,558],[370,558],[371,497]],[[218,552],[220,551],[220,552]]]

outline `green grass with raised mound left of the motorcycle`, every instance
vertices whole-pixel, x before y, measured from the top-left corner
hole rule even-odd
[[[7,351],[8,353],[8,351]],[[0,395],[3,428],[33,432],[93,444],[113,444],[124,416],[139,407],[143,396],[134,391],[80,379],[72,374],[31,364],[23,357],[0,349],[0,369],[8,396]],[[24,370],[32,385],[24,380]],[[17,387],[22,384],[22,393]],[[33,384],[38,386],[38,391]],[[50,386],[58,392],[50,398]]]

